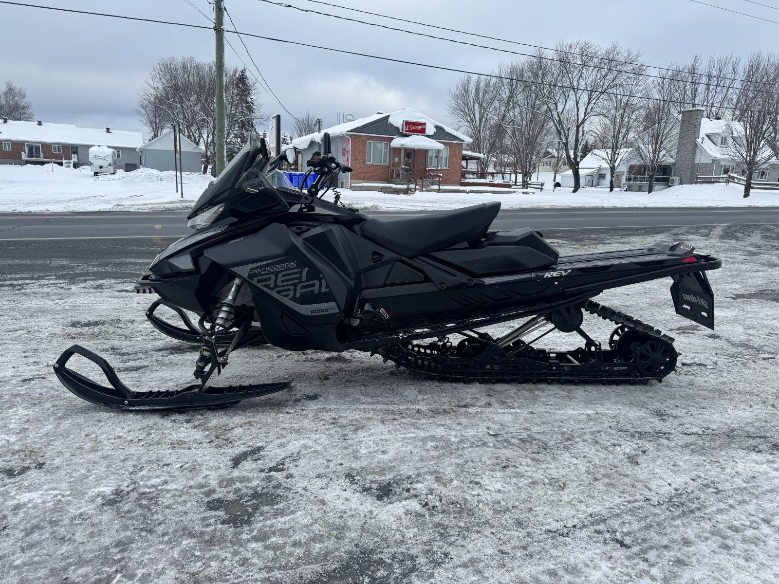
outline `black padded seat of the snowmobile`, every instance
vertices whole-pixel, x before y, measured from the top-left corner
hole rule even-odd
[[[371,241],[414,258],[461,241],[484,237],[499,210],[499,202],[483,202],[481,205],[407,219],[370,217],[362,223],[361,230]]]

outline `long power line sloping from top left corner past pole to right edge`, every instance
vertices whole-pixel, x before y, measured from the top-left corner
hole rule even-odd
[[[693,0],[695,2],[695,0]],[[106,12],[90,12],[86,10],[76,10],[76,9],[65,9],[65,8],[56,8],[54,6],[42,6],[37,4],[26,4],[23,2],[10,2],[9,0],[0,0],[0,4],[9,4],[14,6],[26,6],[30,8],[39,8],[39,9],[46,9],[46,10],[56,10],[58,12],[72,12],[76,14],[87,14],[90,16],[105,16],[108,18],[118,18],[118,19],[125,19],[125,20],[137,20],[139,22],[147,22],[147,23],[157,23],[157,24],[170,24],[172,26],[185,26],[187,28],[196,28],[199,30],[210,30],[213,31],[213,27],[211,26],[201,26],[198,24],[191,24],[191,23],[177,23],[177,22],[171,22],[169,20],[157,20],[157,19],[149,19],[149,18],[142,18],[140,16],[122,16],[118,14],[108,14]],[[260,34],[254,34],[254,33],[238,33],[238,31],[232,31],[227,30],[225,32],[228,33],[236,33],[236,34],[242,34],[246,37],[252,37],[252,38],[259,38],[263,40],[271,40],[276,43],[284,43],[284,44],[293,44],[298,47],[307,47],[307,48],[315,48],[319,51],[330,51],[333,53],[340,53],[342,55],[353,55],[356,57],[365,57],[365,58],[373,58],[377,59],[379,61],[386,61],[386,62],[393,62],[393,63],[400,63],[402,65],[414,65],[417,67],[424,67],[425,69],[436,69],[439,71],[448,71],[448,72],[455,72],[455,73],[465,73],[466,75],[474,75],[474,76],[480,76],[480,77],[489,77],[492,79],[505,79],[507,81],[521,81],[523,83],[530,83],[531,85],[543,85],[548,87],[557,87],[559,89],[566,89],[566,90],[576,90],[576,91],[590,91],[583,89],[582,87],[577,86],[569,86],[569,85],[563,85],[563,84],[557,84],[557,83],[546,83],[542,81],[536,81],[535,79],[523,79],[523,78],[516,78],[516,77],[506,77],[501,75],[496,75],[495,73],[482,73],[482,72],[476,72],[476,71],[467,71],[466,69],[456,69],[454,67],[445,67],[443,65],[430,65],[429,63],[419,63],[414,61],[405,61],[404,59],[397,59],[397,58],[391,58],[391,57],[382,57],[380,55],[365,55],[365,53],[358,53],[356,51],[347,51],[345,49],[337,49],[332,47],[321,47],[316,44],[308,44],[308,43],[301,43],[298,40],[288,40],[288,39],[280,39],[280,38],[274,38],[274,37],[264,37]],[[639,95],[629,95],[627,93],[616,93],[613,91],[601,91],[601,95],[613,95],[616,97],[630,97],[633,99],[640,99],[640,100],[649,100],[649,101],[657,101],[667,104],[676,104],[681,106],[688,105],[687,102],[679,101],[679,100],[668,100],[664,99],[663,97],[649,97],[649,96],[639,96]],[[700,107],[709,107],[714,109],[714,106],[711,104],[700,104]],[[742,111],[742,112],[751,112],[751,113],[765,113],[770,114],[771,112],[767,111],[759,111],[759,110],[739,110],[737,107],[732,106],[721,106],[721,109],[724,110],[733,110],[733,111]]]

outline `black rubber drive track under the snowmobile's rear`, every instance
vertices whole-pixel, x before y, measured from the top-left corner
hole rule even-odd
[[[465,357],[449,357],[439,354],[436,343],[427,346],[414,345],[413,343],[393,343],[381,347],[376,351],[385,360],[393,361],[397,367],[403,366],[428,378],[436,378],[443,381],[462,382],[649,382],[652,379],[662,381],[666,375],[674,371],[678,354],[672,343],[671,336],[663,334],[659,329],[641,322],[614,308],[608,308],[594,301],[585,301],[576,304],[577,307],[599,316],[617,325],[626,327],[626,330],[634,330],[646,336],[650,341],[654,339],[661,349],[668,350],[668,361],[662,371],[657,375],[646,375],[639,371],[635,357],[629,362],[604,361],[569,363],[564,361],[548,363],[543,362],[547,355],[572,355],[591,356],[597,351],[577,349],[573,351],[541,351],[538,359],[505,359],[495,357],[492,360],[480,361],[479,357],[467,359]],[[444,343],[437,343],[444,348]],[[645,346],[648,343],[644,343]],[[615,351],[604,349],[601,355],[611,357]]]

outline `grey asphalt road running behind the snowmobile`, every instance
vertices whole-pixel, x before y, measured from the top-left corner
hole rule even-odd
[[[388,219],[430,211],[375,211]],[[622,209],[506,209],[496,229],[597,229],[779,225],[779,207],[694,207]],[[0,213],[0,241],[85,237],[182,237],[191,234],[185,213]]]

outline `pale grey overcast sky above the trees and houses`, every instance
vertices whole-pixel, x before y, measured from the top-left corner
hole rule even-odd
[[[211,16],[206,0],[191,0]],[[331,12],[389,26],[425,30],[387,19],[369,17],[306,0],[284,0],[305,9]],[[552,46],[560,38],[586,38],[608,44],[618,40],[643,52],[647,63],[668,65],[704,56],[770,49],[777,24],[689,2],[689,0],[384,0],[358,2],[336,0],[340,5],[435,23],[492,37]],[[95,12],[208,24],[184,0],[134,0],[104,2],[80,0],[38,4],[67,6]],[[711,0],[729,9],[777,19],[779,12],[744,0]],[[442,40],[382,30],[317,14],[270,5],[259,0],[225,0],[238,30],[300,40],[325,47],[372,55],[402,58],[485,72],[512,55],[465,47]],[[773,12],[773,13],[772,13]],[[229,26],[229,21],[227,21]],[[42,9],[0,5],[0,83],[5,79],[23,88],[38,118],[61,123],[126,130],[142,130],[132,113],[136,97],[150,66],[168,55],[213,58],[213,34],[153,23],[139,23]],[[428,32],[509,50],[527,51],[513,44],[474,39],[441,30]],[[227,35],[249,64],[234,35]],[[340,55],[312,48],[294,47],[269,40],[245,38],[249,51],[273,91],[294,114],[312,111],[325,125],[336,123],[338,112],[355,117],[376,110],[414,107],[430,117],[447,121],[446,92],[457,79],[452,72]],[[241,61],[226,47],[226,61]],[[259,92],[266,113],[280,107],[264,91]],[[288,117],[283,117],[288,126]]]

